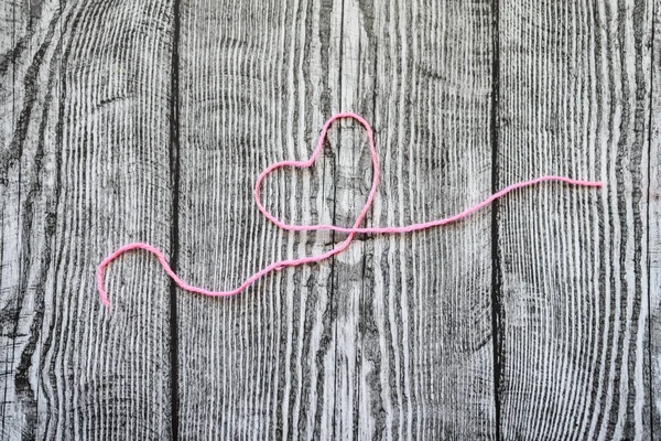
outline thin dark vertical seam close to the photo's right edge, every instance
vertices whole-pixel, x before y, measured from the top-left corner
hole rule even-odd
[[[654,439],[654,389],[652,385],[652,251],[651,251],[651,237],[650,237],[650,204],[651,204],[651,190],[652,190],[652,115],[654,111],[654,53],[657,52],[657,39],[655,39],[655,29],[657,29],[657,1],[652,2],[652,20],[651,20],[651,51],[650,54],[650,108],[649,108],[649,120],[648,120],[648,195],[647,195],[647,226],[646,232],[648,235],[648,247],[647,247],[647,297],[648,297],[648,390],[650,397],[650,439]]]

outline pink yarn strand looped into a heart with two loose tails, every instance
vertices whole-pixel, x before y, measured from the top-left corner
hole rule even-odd
[[[292,168],[296,168],[296,169],[310,168],[316,160],[317,155],[322,152],[322,149],[324,146],[324,139],[326,138],[326,132],[328,131],[328,128],[330,127],[333,121],[340,119],[340,118],[353,118],[353,119],[357,120],[358,122],[360,122],[362,125],[362,127],[365,127],[365,130],[367,131],[367,138],[369,141],[369,153],[371,155],[372,170],[373,170],[372,184],[371,184],[371,189],[369,191],[369,195],[367,196],[367,201],[366,201],[365,205],[362,206],[362,209],[360,209],[360,214],[358,215],[358,217],[356,217],[356,222],[354,223],[354,226],[350,228],[345,228],[345,227],[338,227],[335,225],[291,225],[291,224],[285,224],[281,220],[279,220],[275,216],[273,216],[271,213],[269,213],[267,211],[267,208],[262,205],[262,203],[259,198],[259,192],[260,192],[262,181],[270,173],[272,173],[274,170],[280,169],[280,168],[284,168],[284,166],[292,166]],[[97,288],[99,291],[99,295],[101,298],[101,303],[105,304],[106,306],[110,306],[110,302],[108,301],[108,293],[106,292],[106,289],[104,288],[104,271],[105,271],[106,267],[112,260],[115,260],[119,256],[121,256],[122,254],[133,250],[133,249],[143,249],[143,250],[149,251],[149,252],[153,254],[154,256],[156,256],[156,258],[161,262],[161,266],[163,267],[163,269],[165,270],[167,276],[170,276],[172,278],[172,280],[174,280],[174,282],[183,290],[186,290],[189,292],[196,292],[198,294],[209,295],[209,297],[235,295],[235,294],[238,294],[239,292],[243,291],[246,288],[248,288],[250,284],[252,284],[256,280],[262,278],[263,276],[268,275],[271,271],[279,271],[283,268],[297,267],[300,265],[305,265],[305,263],[319,262],[322,260],[326,260],[326,259],[344,251],[351,244],[351,240],[354,240],[354,236],[356,236],[356,234],[358,234],[358,233],[364,233],[364,234],[404,234],[404,233],[418,232],[421,229],[426,229],[426,228],[432,228],[432,227],[437,227],[441,225],[449,224],[449,223],[459,220],[464,217],[467,217],[467,216],[474,214],[475,212],[484,208],[485,206],[489,205],[491,202],[496,201],[497,198],[502,197],[506,194],[508,194],[517,189],[522,189],[525,186],[534,185],[540,182],[559,181],[559,182],[564,182],[564,183],[572,184],[572,185],[581,185],[581,186],[589,186],[589,187],[599,187],[603,185],[602,182],[579,181],[579,180],[573,180],[573,179],[568,179],[568,178],[563,178],[563,176],[552,176],[552,175],[551,176],[542,176],[542,178],[537,178],[537,179],[533,179],[530,181],[519,182],[519,183],[509,185],[509,186],[500,190],[498,193],[495,193],[491,196],[487,197],[479,204],[477,204],[468,209],[465,209],[462,213],[455,214],[449,217],[445,217],[443,219],[424,222],[421,224],[412,224],[412,225],[407,225],[403,227],[361,228],[360,224],[362,223],[365,216],[367,215],[367,212],[371,207],[371,204],[375,200],[375,195],[377,193],[378,181],[379,181],[379,161],[378,161],[378,157],[377,157],[377,150],[375,148],[375,140],[373,140],[371,128],[369,127],[369,125],[367,123],[367,121],[364,118],[361,118],[360,116],[358,116],[356,114],[343,112],[343,114],[334,115],[324,125],[322,132],[319,135],[319,139],[317,141],[317,146],[316,146],[314,152],[312,153],[312,155],[310,157],[310,159],[306,161],[282,161],[282,162],[277,162],[272,165],[269,165],[264,171],[262,171],[259,174],[259,176],[257,176],[257,182],[254,183],[253,196],[254,196],[254,202],[257,203],[257,207],[259,208],[259,211],[269,220],[271,220],[273,224],[275,224],[277,226],[279,226],[282,229],[292,230],[292,232],[334,230],[334,232],[339,232],[339,233],[346,233],[347,234],[346,239],[344,239],[342,243],[336,245],[335,248],[330,249],[329,251],[323,252],[317,256],[308,256],[308,257],[302,257],[299,259],[288,259],[288,260],[281,260],[281,261],[273,262],[273,263],[269,265],[268,267],[257,271],[256,273],[250,276],[248,279],[246,279],[246,281],[243,281],[243,283],[241,283],[238,288],[230,290],[230,291],[209,291],[204,288],[194,287],[192,284],[188,284],[188,283],[184,282],[182,279],[180,279],[174,273],[172,268],[170,268],[170,265],[167,265],[165,257],[158,248],[154,248],[151,245],[142,244],[142,243],[128,244],[128,245],[124,245],[123,247],[118,248],[115,252],[112,252],[111,255],[106,257],[98,266],[96,281],[97,281]]]

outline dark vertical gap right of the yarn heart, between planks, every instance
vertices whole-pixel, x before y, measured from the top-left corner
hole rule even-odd
[[[499,41],[499,1],[491,1],[491,193],[498,191],[498,110],[500,98],[500,41]],[[502,295],[500,273],[500,252],[498,249],[498,201],[495,201],[491,208],[491,343],[494,354],[494,408],[495,408],[495,429],[496,440],[501,439],[500,429],[500,362],[502,356],[502,342],[500,338],[500,325],[502,319],[502,305],[500,299]]]

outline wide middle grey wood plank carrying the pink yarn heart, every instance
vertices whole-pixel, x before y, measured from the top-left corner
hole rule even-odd
[[[254,208],[266,165],[306,158],[324,120],[365,115],[381,193],[370,225],[449,215],[489,193],[488,2],[182,1],[178,269],[228,289],[339,236],[283,234]],[[332,129],[310,173],[264,198],[349,225],[371,170]],[[177,302],[182,438],[492,438],[490,215],[366,237],[234,299]]]

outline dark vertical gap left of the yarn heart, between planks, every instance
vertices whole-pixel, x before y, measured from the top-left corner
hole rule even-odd
[[[170,227],[171,267],[178,271],[178,196],[180,196],[180,100],[178,100],[178,44],[180,0],[173,0],[172,14],[172,65],[170,82],[170,173],[172,182],[172,222]],[[176,309],[176,284],[170,282],[170,405],[172,439],[178,439],[178,323]]]

